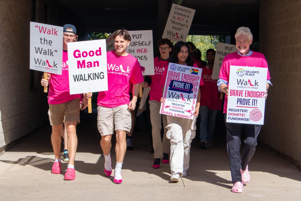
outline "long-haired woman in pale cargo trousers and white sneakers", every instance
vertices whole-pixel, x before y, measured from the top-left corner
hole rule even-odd
[[[177,42],[172,50],[172,55],[169,58],[169,62],[187,66],[197,67],[192,61],[188,53],[188,44],[186,42]],[[160,85],[163,86],[166,82],[167,70],[160,80]],[[200,79],[200,86],[203,85],[203,79]],[[165,99],[161,97],[160,102],[164,102]],[[190,144],[195,137],[196,125],[195,121],[199,114],[200,108],[200,89],[197,96],[197,103],[194,110],[194,119],[187,119],[181,117],[175,117],[167,115],[167,133],[166,137],[170,139],[170,171],[172,176],[170,181],[178,182],[180,177],[187,176],[187,170],[189,168],[190,157]]]

